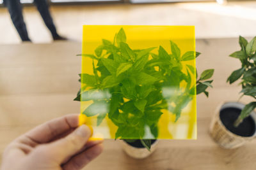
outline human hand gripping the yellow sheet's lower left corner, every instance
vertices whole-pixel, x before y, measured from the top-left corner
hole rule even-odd
[[[88,126],[78,115],[39,125],[15,139],[3,154],[1,170],[78,170],[102,152],[102,141],[88,141]]]

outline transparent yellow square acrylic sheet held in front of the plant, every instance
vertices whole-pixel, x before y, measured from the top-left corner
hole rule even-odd
[[[196,139],[195,27],[84,25],[79,121],[92,138]]]

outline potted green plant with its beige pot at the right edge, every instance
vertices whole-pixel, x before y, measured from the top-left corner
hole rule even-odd
[[[212,139],[223,148],[237,148],[255,136],[256,114],[256,37],[248,43],[239,37],[241,50],[230,57],[241,61],[241,68],[232,72],[227,78],[230,84],[241,80],[241,97],[251,96],[254,101],[246,105],[238,102],[225,103],[214,115],[211,122],[210,134]],[[240,97],[240,98],[241,98]]]

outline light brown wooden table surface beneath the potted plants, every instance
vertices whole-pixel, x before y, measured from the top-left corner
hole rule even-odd
[[[237,101],[241,90],[228,85],[228,75],[240,67],[228,55],[239,50],[238,39],[198,39],[202,52],[196,66],[199,73],[214,68],[214,89],[207,99],[197,98],[198,139],[161,140],[150,157],[136,160],[122,151],[117,141],[104,141],[104,152],[85,169],[255,169],[256,140],[236,150],[217,146],[208,129],[216,107]],[[0,153],[10,141],[38,124],[68,113],[79,113],[76,97],[81,69],[81,43],[0,45]],[[250,98],[241,101],[248,102]],[[0,157],[1,159],[1,157]]]

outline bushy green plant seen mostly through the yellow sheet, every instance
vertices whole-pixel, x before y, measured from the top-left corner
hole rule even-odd
[[[197,77],[197,71],[186,61],[194,60],[200,53],[181,55],[173,41],[172,53],[163,46],[159,46],[158,53],[152,52],[156,47],[132,50],[126,39],[124,29],[120,29],[113,42],[102,39],[102,45],[93,54],[82,55],[93,60],[93,74],[79,74],[82,86],[74,100],[93,101],[84,109],[84,115],[97,116],[97,125],[108,116],[118,127],[115,138],[128,143],[140,139],[150,150],[151,139],[143,139],[145,127],[150,129],[150,138],[156,139],[163,110],[175,114],[176,122],[193,96],[202,92],[209,95],[205,90],[212,87],[212,80],[205,80],[211,78],[214,70],[204,71],[192,83],[191,75]],[[185,87],[182,82],[186,82]]]

